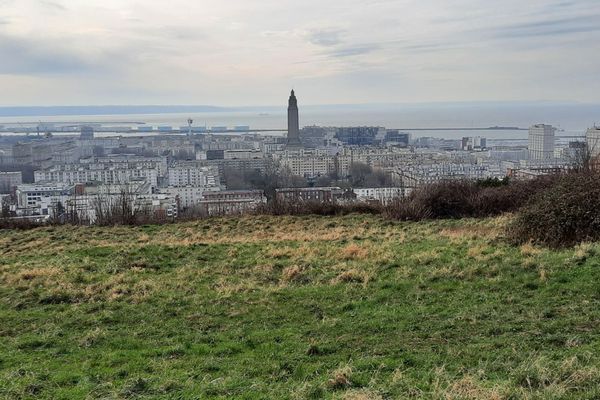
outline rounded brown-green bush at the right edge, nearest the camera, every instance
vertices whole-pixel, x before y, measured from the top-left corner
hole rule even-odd
[[[600,175],[563,175],[533,196],[509,227],[517,243],[551,247],[600,239]]]

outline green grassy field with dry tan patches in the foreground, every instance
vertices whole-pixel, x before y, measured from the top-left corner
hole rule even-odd
[[[0,231],[0,398],[600,398],[600,245],[506,222]]]

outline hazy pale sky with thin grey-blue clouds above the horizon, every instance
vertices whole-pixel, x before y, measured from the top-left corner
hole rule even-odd
[[[0,0],[0,105],[598,103],[600,0]]]

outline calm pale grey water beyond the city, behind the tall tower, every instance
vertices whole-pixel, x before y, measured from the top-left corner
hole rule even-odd
[[[103,126],[168,125],[173,128],[187,125],[192,118],[195,126],[248,125],[251,129],[284,129],[287,127],[285,108],[265,111],[127,114],[92,116],[0,117],[0,125],[36,126],[40,122],[74,125],[100,123]],[[527,131],[519,130],[411,130],[410,128],[476,128],[515,126],[527,128],[535,123],[562,127],[559,136],[581,136],[594,120],[600,120],[600,108],[592,106],[532,106],[532,105],[437,105],[437,106],[307,106],[300,109],[300,124],[320,126],[383,126],[409,131],[413,137],[433,136],[459,139],[463,136],[483,136],[495,140],[527,138]],[[2,133],[6,135],[6,133]],[[100,134],[105,135],[105,134]]]

